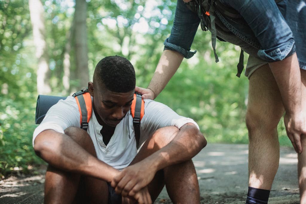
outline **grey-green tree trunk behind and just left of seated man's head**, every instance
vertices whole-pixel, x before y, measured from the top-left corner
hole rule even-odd
[[[72,26],[74,27],[76,76],[80,82],[76,87],[77,90],[87,87],[89,80],[86,13],[87,3],[85,0],[76,0]]]

